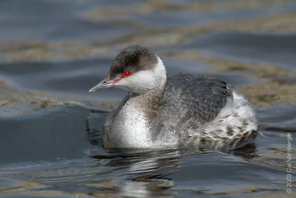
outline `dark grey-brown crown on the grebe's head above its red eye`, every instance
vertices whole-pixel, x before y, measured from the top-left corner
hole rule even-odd
[[[113,79],[125,71],[134,73],[139,70],[153,69],[157,62],[157,55],[148,47],[130,45],[122,49],[115,57],[108,77]]]

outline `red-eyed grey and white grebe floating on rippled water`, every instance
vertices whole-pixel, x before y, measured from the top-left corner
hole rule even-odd
[[[130,92],[105,120],[104,148],[231,149],[257,135],[254,110],[229,84],[186,74],[167,78],[162,60],[148,47],[124,48],[89,92],[112,86]]]

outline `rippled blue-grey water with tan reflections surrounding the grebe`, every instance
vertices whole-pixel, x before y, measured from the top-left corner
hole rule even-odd
[[[289,0],[0,1],[0,198],[296,197],[295,18]],[[256,109],[257,139],[223,152],[102,149],[126,92],[87,91],[135,43],[169,75],[234,85]]]

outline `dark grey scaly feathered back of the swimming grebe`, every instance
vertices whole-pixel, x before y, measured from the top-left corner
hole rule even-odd
[[[179,74],[168,79],[159,113],[164,123],[176,120],[180,124],[190,118],[195,118],[194,125],[209,122],[217,117],[228,97],[232,98],[230,85],[222,80]]]

